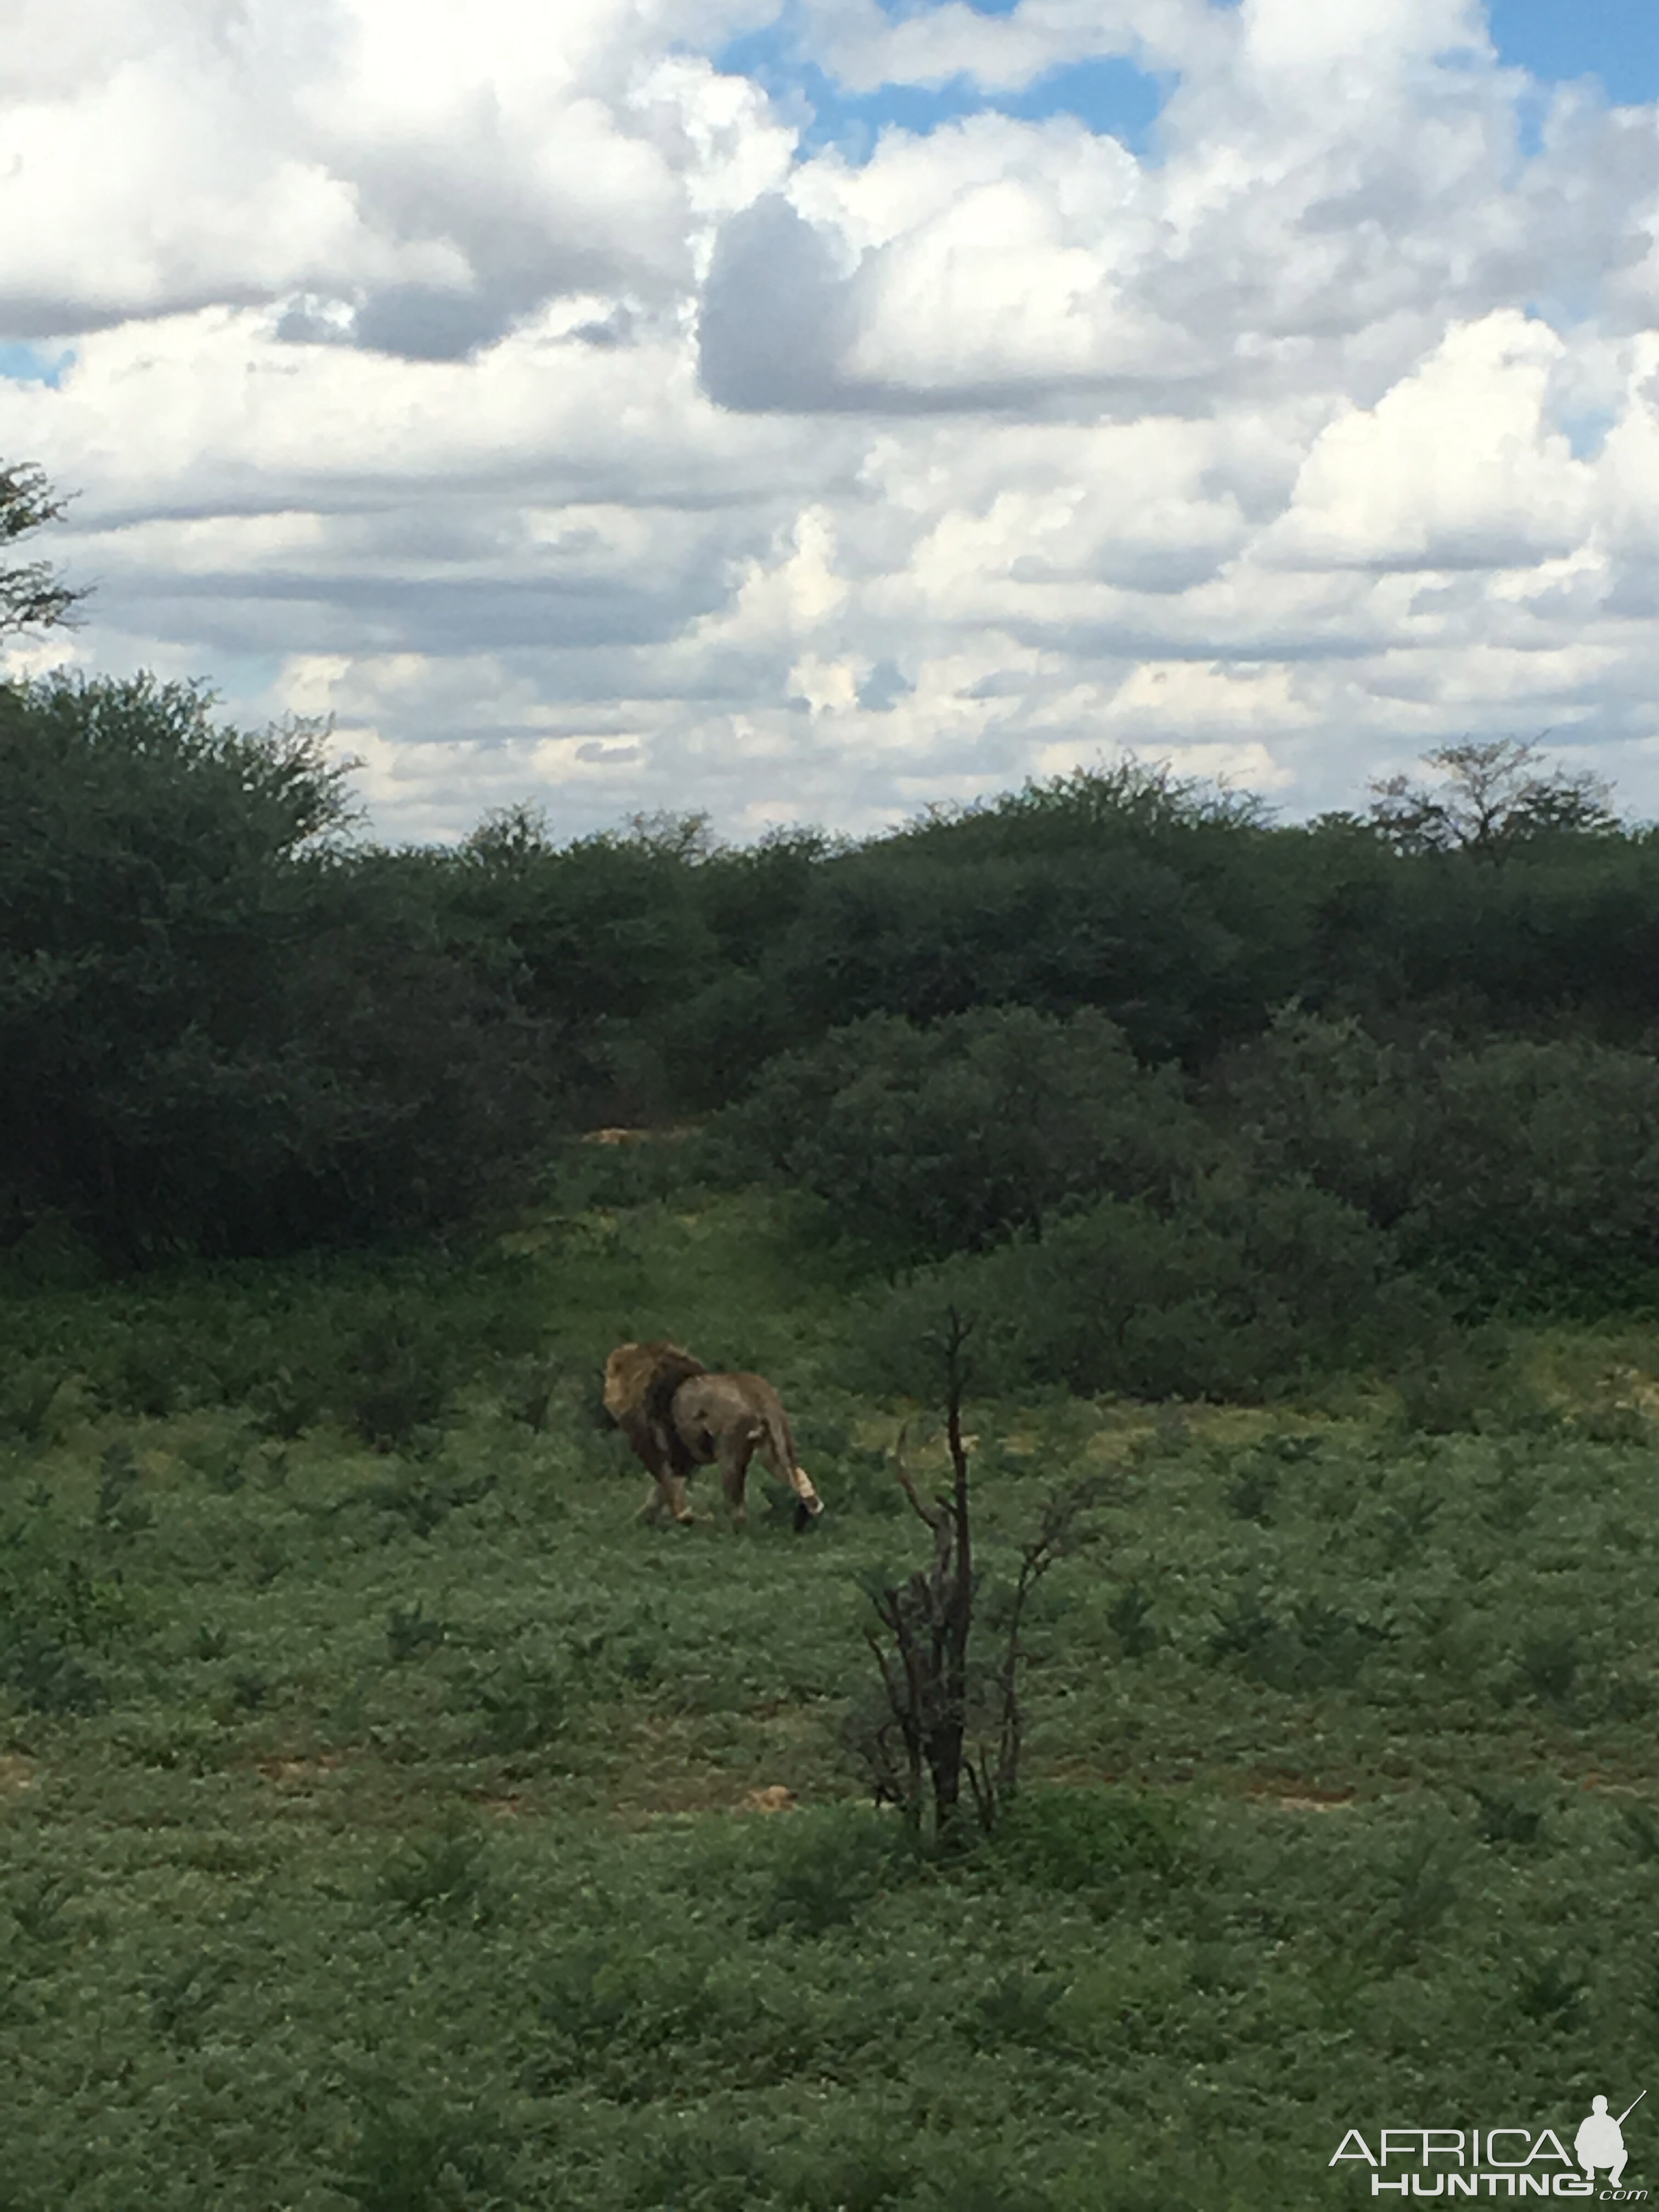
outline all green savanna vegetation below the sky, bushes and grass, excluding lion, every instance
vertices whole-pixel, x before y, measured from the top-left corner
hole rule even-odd
[[[1265,2212],[1628,2104],[1659,845],[1429,768],[383,849],[319,728],[0,686],[0,2208]],[[657,1336],[810,1535],[635,1524]]]

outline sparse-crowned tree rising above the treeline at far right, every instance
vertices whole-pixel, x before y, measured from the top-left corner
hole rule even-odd
[[[1422,757],[1444,783],[1409,776],[1371,783],[1371,821],[1405,854],[1469,852],[1502,860],[1542,836],[1604,836],[1619,827],[1613,792],[1588,768],[1540,774],[1544,752],[1520,737],[1467,739]]]

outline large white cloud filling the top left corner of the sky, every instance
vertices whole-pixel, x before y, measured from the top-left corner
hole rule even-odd
[[[752,15],[728,0],[697,29]],[[754,88],[668,53],[686,20],[672,0],[562,0],[555,29],[526,0],[29,0],[0,321],[305,292],[447,356],[575,288],[684,296],[692,232],[741,204],[728,173],[772,181],[790,146]]]

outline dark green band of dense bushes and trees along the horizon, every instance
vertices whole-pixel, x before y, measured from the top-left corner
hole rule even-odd
[[[1659,836],[1526,745],[1436,765],[1307,825],[1130,763],[863,845],[513,810],[389,852],[316,728],[0,688],[4,1234],[372,1243],[714,1113],[889,1267],[1161,1270],[1263,1345],[1400,1270],[1639,1294]]]

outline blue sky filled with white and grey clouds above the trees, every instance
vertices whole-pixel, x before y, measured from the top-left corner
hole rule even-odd
[[[332,714],[387,838],[1659,816],[1659,9],[7,0],[0,458],[13,668]]]

